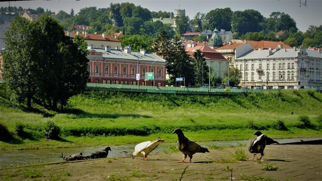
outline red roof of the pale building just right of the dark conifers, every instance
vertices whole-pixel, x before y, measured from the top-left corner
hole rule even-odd
[[[201,50],[201,52],[204,54],[205,58],[209,58],[211,60],[224,60],[228,61],[223,57],[223,55],[220,52],[217,52],[211,48],[209,48],[206,45],[197,45],[195,47],[186,47],[185,51],[190,55],[191,58],[194,58],[194,50]]]

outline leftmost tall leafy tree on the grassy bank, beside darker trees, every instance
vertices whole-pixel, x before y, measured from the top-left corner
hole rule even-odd
[[[5,81],[14,98],[31,108],[31,98],[38,91],[41,75],[38,62],[37,34],[32,23],[15,16],[5,32],[6,50],[3,54]]]

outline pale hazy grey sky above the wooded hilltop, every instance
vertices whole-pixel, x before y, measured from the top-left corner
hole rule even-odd
[[[45,10],[54,11],[58,13],[64,10],[70,13],[71,8],[75,13],[78,13],[81,8],[96,6],[97,8],[109,7],[110,3],[131,2],[135,5],[141,5],[150,11],[167,11],[173,12],[174,9],[185,9],[186,15],[190,19],[194,17],[197,12],[208,13],[210,10],[216,8],[230,7],[232,11],[243,11],[245,9],[258,10],[264,17],[269,17],[271,12],[285,12],[295,19],[298,29],[305,32],[309,25],[322,24],[322,0],[307,0],[307,7],[301,5],[300,0],[135,0],[135,1],[103,1],[103,0],[33,0],[33,1],[12,1],[11,6],[22,6],[23,8],[43,7]],[[305,2],[305,0],[301,0]],[[1,2],[1,6],[8,6],[6,2]]]

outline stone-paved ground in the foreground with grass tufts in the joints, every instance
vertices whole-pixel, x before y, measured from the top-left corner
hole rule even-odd
[[[183,154],[149,155],[140,158],[104,158],[52,165],[33,165],[0,170],[1,180],[322,180],[322,145],[268,145],[265,160],[239,163],[214,163],[236,149],[197,153],[194,163],[177,163]],[[246,148],[249,158],[252,154]],[[187,158],[188,159],[188,158]],[[186,160],[188,161],[188,160]],[[277,171],[263,171],[267,165]],[[229,166],[231,171],[227,171]],[[225,170],[226,168],[226,170]],[[33,178],[35,177],[35,178]]]

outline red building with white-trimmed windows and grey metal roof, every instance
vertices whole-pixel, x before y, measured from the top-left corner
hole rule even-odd
[[[111,49],[94,48],[88,45],[88,82],[127,85],[166,85],[166,61],[152,52],[141,49],[131,51],[131,47]],[[154,81],[145,80],[146,72],[154,72]],[[136,74],[140,80],[136,80]]]

